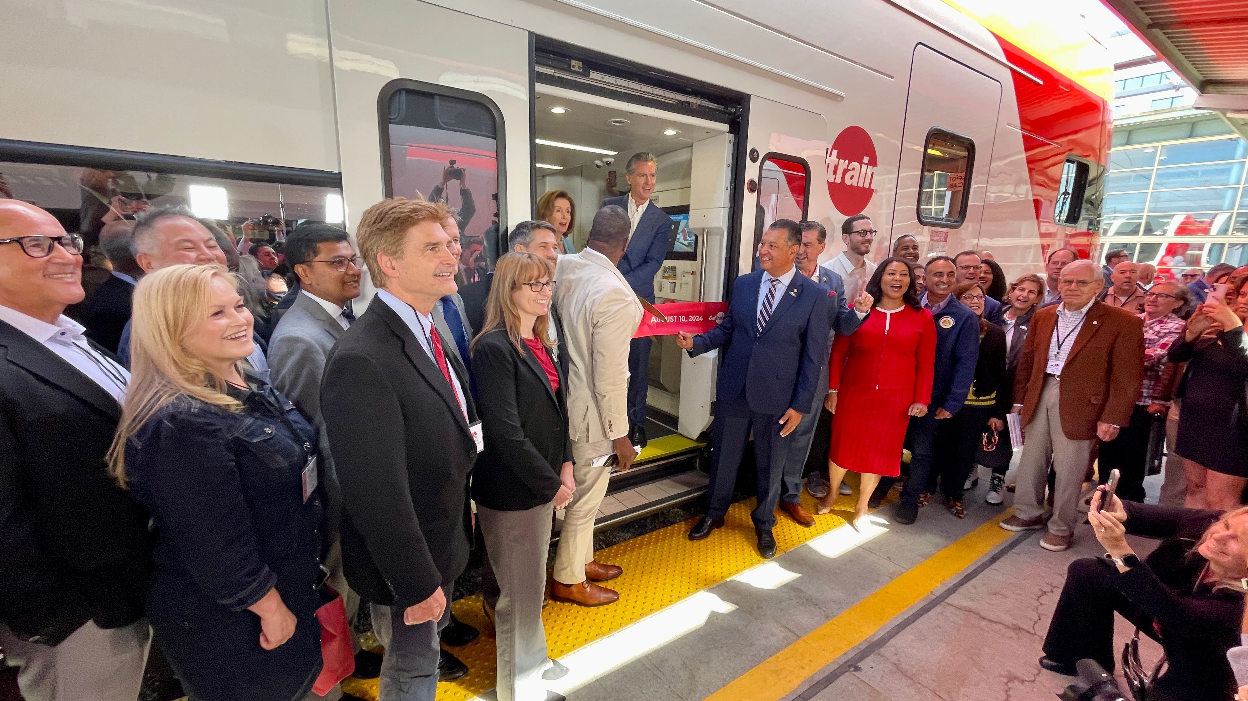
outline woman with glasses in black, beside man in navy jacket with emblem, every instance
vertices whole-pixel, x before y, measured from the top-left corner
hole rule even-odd
[[[1006,427],[1010,390],[1006,385],[1006,332],[983,318],[983,301],[987,298],[983,288],[963,282],[953,288],[953,298],[970,307],[980,319],[980,357],[966,403],[940,424],[927,491],[935,493],[938,480],[941,491],[948,499],[948,513],[965,519],[962,494],[975,468],[975,450],[983,442],[986,430],[1000,434]]]

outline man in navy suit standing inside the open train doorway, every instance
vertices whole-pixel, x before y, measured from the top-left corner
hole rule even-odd
[[[633,153],[624,166],[624,180],[629,193],[603,200],[603,207],[615,205],[629,218],[629,239],[619,271],[624,273],[633,292],[654,303],[654,276],[668,254],[671,243],[671,217],[650,202],[654,193],[655,172],[659,163],[649,152]],[[628,423],[633,445],[645,447],[645,395],[650,387],[649,337],[634,338],[628,350]]]

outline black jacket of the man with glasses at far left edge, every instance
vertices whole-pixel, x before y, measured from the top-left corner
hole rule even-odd
[[[0,322],[0,621],[56,645],[144,615],[147,513],[107,474],[121,408]]]

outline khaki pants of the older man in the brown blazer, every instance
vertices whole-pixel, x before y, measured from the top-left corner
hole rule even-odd
[[[1080,494],[1087,474],[1093,440],[1071,440],[1062,433],[1061,380],[1045,378],[1040,405],[1025,428],[1022,459],[1018,463],[1018,489],[1015,493],[1015,514],[1033,520],[1045,514],[1045,488],[1052,457],[1056,481],[1053,485],[1053,518],[1048,533],[1072,535],[1080,520]]]

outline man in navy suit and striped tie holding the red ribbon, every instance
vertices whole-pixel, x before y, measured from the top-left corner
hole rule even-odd
[[[696,357],[728,347],[716,387],[715,462],[710,471],[710,509],[689,531],[701,540],[724,525],[733,503],[745,440],[754,430],[758,506],[751,518],[759,554],[774,558],[776,500],[791,437],[820,392],[820,367],[827,362],[827,289],[797,273],[801,227],[776,220],[759,243],[760,271],[736,278],[724,321],[699,336],[680,333],[676,344]]]

